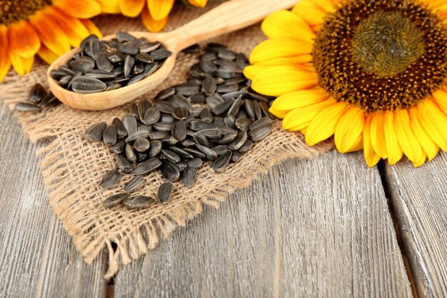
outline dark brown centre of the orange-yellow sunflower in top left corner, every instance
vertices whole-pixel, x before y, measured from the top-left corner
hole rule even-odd
[[[9,26],[14,21],[26,20],[34,12],[51,4],[51,0],[0,1],[0,24]]]

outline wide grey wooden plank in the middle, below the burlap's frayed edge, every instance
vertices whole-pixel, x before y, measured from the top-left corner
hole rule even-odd
[[[378,170],[290,160],[122,268],[115,297],[412,297]]]

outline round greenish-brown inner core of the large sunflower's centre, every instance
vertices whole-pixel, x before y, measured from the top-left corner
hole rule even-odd
[[[421,31],[396,12],[378,11],[361,22],[353,39],[354,60],[378,76],[393,76],[425,52]]]

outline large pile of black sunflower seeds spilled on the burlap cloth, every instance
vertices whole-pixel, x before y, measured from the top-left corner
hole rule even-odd
[[[222,172],[253,142],[268,136],[274,120],[268,112],[272,98],[251,90],[251,81],[242,74],[247,63],[243,54],[209,44],[186,83],[161,91],[154,104],[132,104],[130,114],[110,125],[89,127],[86,139],[102,140],[116,154],[117,169],[106,174],[101,187],[115,187],[121,173],[133,175],[122,192],[104,204],[136,209],[154,202],[151,197],[131,197],[131,192],[144,184],[144,175],[156,170],[166,179],[156,201],[166,203],[174,190],[172,182],[181,179],[192,187],[204,163]]]

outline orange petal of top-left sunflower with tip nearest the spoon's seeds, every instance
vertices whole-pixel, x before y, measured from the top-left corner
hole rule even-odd
[[[89,30],[86,29],[79,19],[66,14],[64,11],[61,11],[61,9],[54,6],[49,6],[46,11],[51,14],[57,24],[61,26],[61,29],[65,32],[71,46],[79,46],[82,39],[89,35]]]

